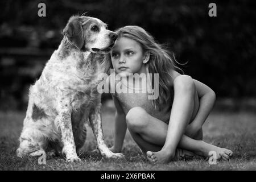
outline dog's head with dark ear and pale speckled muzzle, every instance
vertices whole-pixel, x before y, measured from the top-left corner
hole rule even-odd
[[[88,16],[72,16],[63,34],[73,46],[93,53],[108,53],[117,40],[104,22]]]

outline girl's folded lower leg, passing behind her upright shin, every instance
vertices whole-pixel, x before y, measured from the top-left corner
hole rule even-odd
[[[126,115],[127,127],[131,136],[143,152],[159,151],[166,141],[168,125],[152,117],[141,107],[134,107]],[[229,159],[232,151],[195,140],[185,135],[181,137],[178,147],[207,157],[209,151],[216,151],[218,158]],[[152,152],[152,153],[153,153]],[[151,162],[161,162],[155,155],[148,156]]]

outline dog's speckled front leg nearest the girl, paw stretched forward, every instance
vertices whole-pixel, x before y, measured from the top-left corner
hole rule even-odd
[[[105,158],[123,158],[123,154],[110,151],[108,146],[106,146],[104,142],[104,135],[101,123],[101,103],[97,105],[96,109],[93,110],[92,113],[90,113],[89,120],[94,137],[96,138],[97,148],[98,150],[100,150],[101,155]]]

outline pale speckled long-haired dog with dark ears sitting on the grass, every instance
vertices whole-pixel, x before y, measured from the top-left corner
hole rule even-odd
[[[100,19],[72,16],[63,35],[39,80],[30,87],[16,155],[39,156],[43,151],[63,155],[68,162],[80,161],[77,151],[84,145],[89,120],[101,155],[122,158],[104,142],[97,92],[102,70],[98,55],[110,52],[117,34]]]

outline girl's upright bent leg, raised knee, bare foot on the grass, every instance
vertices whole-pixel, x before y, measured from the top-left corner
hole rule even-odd
[[[177,145],[198,109],[199,101],[192,78],[189,76],[175,78],[174,102],[172,104],[166,142],[160,151],[148,151],[148,156],[154,155],[156,159],[163,163],[174,158]]]

